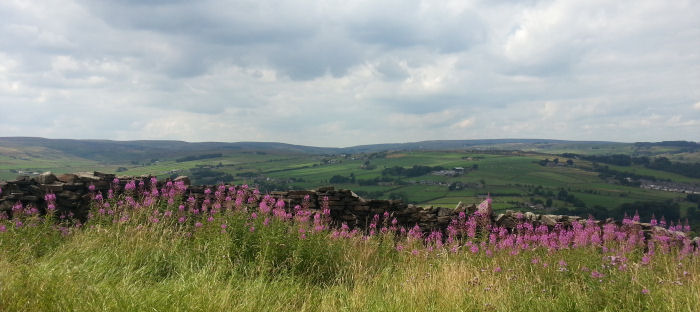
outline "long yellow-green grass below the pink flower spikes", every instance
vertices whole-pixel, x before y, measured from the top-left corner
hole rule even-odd
[[[249,220],[219,215],[192,237],[191,228],[165,218],[88,223],[68,236],[43,225],[10,228],[0,232],[0,310],[696,311],[700,305],[698,257],[659,253],[645,266],[633,253],[621,271],[603,267],[610,254],[592,248],[516,256],[421,248],[416,256],[379,237],[332,240],[320,233],[302,240],[286,224],[265,227],[260,219],[250,232]],[[221,223],[229,225],[226,233]],[[593,278],[585,268],[605,276]]]

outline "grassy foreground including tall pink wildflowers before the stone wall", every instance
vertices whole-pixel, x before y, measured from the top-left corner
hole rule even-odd
[[[327,211],[290,209],[270,197],[248,206],[245,197],[260,195],[241,189],[219,188],[201,206],[176,187],[157,193],[97,195],[84,224],[15,207],[14,218],[0,220],[0,310],[697,311],[700,306],[698,250],[664,237],[634,241],[639,236],[630,229],[493,228],[489,234],[473,232],[478,219],[462,216],[442,237],[397,229],[390,217],[377,216],[363,234],[329,227]],[[614,237],[605,238],[608,234]],[[596,235],[602,235],[600,241],[592,238]]]

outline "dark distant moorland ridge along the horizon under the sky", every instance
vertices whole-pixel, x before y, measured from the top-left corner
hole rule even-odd
[[[543,153],[643,154],[694,152],[700,144],[685,141],[618,143],[548,139],[432,140],[408,143],[315,147],[275,142],[201,142],[168,140],[111,141],[0,137],[0,156],[12,158],[77,157],[102,163],[199,157],[203,154],[264,152],[273,154],[354,154],[384,151],[523,150]]]

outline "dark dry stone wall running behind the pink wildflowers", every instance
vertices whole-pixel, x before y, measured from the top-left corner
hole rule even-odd
[[[115,178],[118,178],[118,182]],[[115,182],[118,183],[120,189],[124,189],[126,183],[131,180],[143,181],[144,186],[150,188],[150,178],[151,176],[117,177],[114,174],[100,172],[81,172],[59,176],[47,172],[31,178],[27,176],[19,177],[15,181],[0,182],[0,189],[2,189],[2,193],[0,193],[0,214],[4,212],[10,215],[12,206],[17,202],[21,202],[25,206],[32,205],[43,213],[46,207],[44,195],[53,193],[56,195],[57,213],[84,220],[89,210],[91,199],[89,188],[91,185],[94,186],[95,192],[106,194]],[[190,185],[190,180],[187,177],[179,177],[176,180],[183,181],[188,185],[186,194],[195,197],[200,202],[204,199],[204,191],[207,186]],[[158,187],[161,187],[164,182],[158,183]],[[287,207],[301,205],[304,197],[308,196],[311,209],[319,209],[322,202],[327,199],[331,218],[335,223],[347,223],[349,226],[360,228],[365,228],[375,214],[382,215],[385,212],[396,218],[399,226],[413,227],[417,224],[425,231],[443,230],[459,213],[473,214],[477,210],[486,216],[484,219],[487,223],[508,229],[513,229],[522,222],[531,222],[535,226],[542,224],[552,228],[557,225],[569,227],[573,222],[586,221],[577,216],[538,215],[531,212],[519,213],[513,211],[494,216],[491,213],[490,205],[477,207],[474,204],[465,205],[461,202],[455,208],[419,207],[396,200],[364,199],[350,190],[335,189],[333,187],[323,187],[308,191],[273,192],[270,195],[277,199],[283,199],[287,203]],[[605,221],[594,220],[594,222],[596,224],[620,224],[619,221],[612,219]],[[651,236],[651,233],[654,231],[669,232],[664,228],[652,226],[649,223],[636,223],[636,226],[640,227],[648,236]],[[673,232],[673,234],[685,235],[681,232]],[[695,243],[700,244],[700,239],[696,237]]]

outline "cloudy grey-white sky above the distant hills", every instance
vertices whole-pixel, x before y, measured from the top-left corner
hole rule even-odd
[[[700,1],[0,1],[0,137],[700,141]]]

